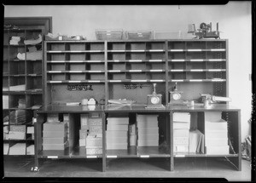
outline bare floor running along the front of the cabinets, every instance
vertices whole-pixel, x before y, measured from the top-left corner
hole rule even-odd
[[[102,159],[45,159],[38,172],[31,172],[33,159],[4,160],[4,177],[112,177],[112,178],[225,178],[250,181],[250,162],[241,161],[237,171],[224,157],[175,158],[174,171],[168,171],[165,158],[108,159],[102,172]],[[84,179],[85,180],[85,179]]]

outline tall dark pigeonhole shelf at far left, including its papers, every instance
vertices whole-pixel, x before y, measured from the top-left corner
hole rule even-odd
[[[43,29],[4,29],[3,34],[3,122],[4,155],[34,156],[32,127],[34,105],[43,105]],[[32,96],[34,94],[35,96]],[[31,129],[30,129],[31,130]]]

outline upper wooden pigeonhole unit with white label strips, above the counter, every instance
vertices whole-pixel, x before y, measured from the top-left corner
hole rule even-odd
[[[227,96],[228,41],[45,41],[44,68],[45,106],[68,102],[68,84],[93,86],[86,96],[76,92],[72,101],[92,97],[105,105],[109,99],[145,104],[152,83],[157,83],[163,104],[170,101],[175,83],[184,91],[183,100],[200,94]],[[124,89],[124,84],[143,86]]]

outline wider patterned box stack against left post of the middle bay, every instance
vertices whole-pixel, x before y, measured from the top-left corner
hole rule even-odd
[[[86,154],[102,154],[102,117],[89,117],[89,134],[86,137]]]

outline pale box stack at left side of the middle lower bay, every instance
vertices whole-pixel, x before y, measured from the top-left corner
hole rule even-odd
[[[108,117],[107,121],[107,150],[127,149],[129,117]]]

